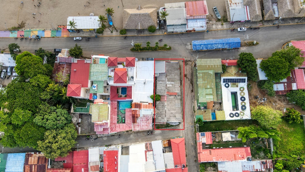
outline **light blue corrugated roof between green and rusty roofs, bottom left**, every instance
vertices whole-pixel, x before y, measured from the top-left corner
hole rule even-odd
[[[6,159],[5,171],[23,172],[25,153],[9,153]]]

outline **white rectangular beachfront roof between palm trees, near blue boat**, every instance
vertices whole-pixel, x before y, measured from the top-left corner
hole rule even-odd
[[[69,21],[75,22],[77,29],[98,29],[99,28],[99,16],[74,16],[68,17],[67,29],[71,29]],[[73,29],[73,28],[72,28]]]

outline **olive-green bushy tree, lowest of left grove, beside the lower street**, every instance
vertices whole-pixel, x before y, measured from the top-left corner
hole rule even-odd
[[[48,130],[45,132],[44,140],[38,141],[37,150],[43,152],[47,158],[65,157],[77,143],[76,137],[77,132],[73,124],[59,130]]]

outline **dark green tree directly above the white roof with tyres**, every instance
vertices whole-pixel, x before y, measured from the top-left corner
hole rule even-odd
[[[257,63],[252,53],[240,53],[237,66],[247,73],[249,80],[257,81]]]

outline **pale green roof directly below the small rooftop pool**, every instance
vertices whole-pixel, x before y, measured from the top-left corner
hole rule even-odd
[[[89,80],[107,80],[108,66],[107,64],[91,64]]]

